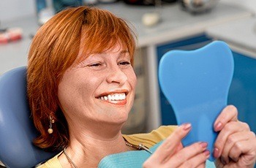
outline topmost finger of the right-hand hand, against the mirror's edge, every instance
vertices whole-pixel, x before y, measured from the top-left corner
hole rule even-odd
[[[230,121],[238,121],[238,110],[233,105],[228,105],[219,114],[214,122],[214,130],[220,131]]]

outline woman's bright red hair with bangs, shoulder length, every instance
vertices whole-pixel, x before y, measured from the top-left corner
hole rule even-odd
[[[133,63],[135,34],[127,23],[112,13],[91,7],[65,9],[48,20],[31,43],[27,71],[27,93],[39,148],[60,150],[69,142],[67,121],[57,96],[64,72],[77,60],[80,47],[84,58],[109,50],[119,43]],[[51,116],[53,134],[48,134]]]

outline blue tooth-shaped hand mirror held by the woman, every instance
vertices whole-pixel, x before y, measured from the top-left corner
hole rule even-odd
[[[213,153],[214,121],[227,105],[233,77],[233,55],[225,42],[215,41],[197,50],[171,50],[159,62],[159,84],[173,107],[177,123],[192,123],[182,141],[208,142]],[[211,154],[210,161],[214,161]]]

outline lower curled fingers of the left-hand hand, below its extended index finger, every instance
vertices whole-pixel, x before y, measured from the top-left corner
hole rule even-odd
[[[197,142],[178,151],[167,162],[172,167],[198,167],[210,156],[206,142]]]

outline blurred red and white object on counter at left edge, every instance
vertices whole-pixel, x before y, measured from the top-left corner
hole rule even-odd
[[[8,28],[6,31],[0,32],[0,45],[8,42],[14,42],[22,39],[21,28]]]

